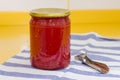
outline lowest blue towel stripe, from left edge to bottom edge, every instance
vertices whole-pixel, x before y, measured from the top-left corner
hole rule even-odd
[[[23,78],[36,78],[36,79],[51,79],[51,80],[71,80],[66,77],[58,77],[55,75],[38,75],[38,74],[28,74],[20,72],[7,72],[0,70],[0,74],[4,76],[13,76],[13,77],[23,77]]]

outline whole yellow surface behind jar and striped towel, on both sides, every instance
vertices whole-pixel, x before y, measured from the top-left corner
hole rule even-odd
[[[120,38],[120,10],[79,10],[71,12],[71,32],[97,32]],[[79,16],[78,16],[79,15]],[[28,12],[0,12],[0,63],[29,45]]]

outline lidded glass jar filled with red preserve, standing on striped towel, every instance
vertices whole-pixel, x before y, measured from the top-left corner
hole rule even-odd
[[[70,63],[70,11],[40,8],[30,12],[30,58],[39,69],[61,69]]]

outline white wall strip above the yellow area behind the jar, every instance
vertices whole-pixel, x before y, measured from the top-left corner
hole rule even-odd
[[[120,0],[71,0],[70,9],[120,9]],[[0,0],[0,11],[28,11],[41,7],[67,8],[67,0]]]

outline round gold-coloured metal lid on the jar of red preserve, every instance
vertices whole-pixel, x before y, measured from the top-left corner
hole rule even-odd
[[[30,11],[30,15],[34,17],[64,17],[70,15],[70,11],[61,8],[39,8]]]

